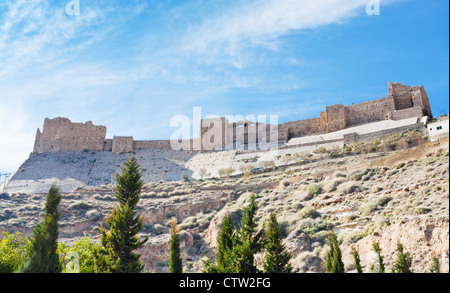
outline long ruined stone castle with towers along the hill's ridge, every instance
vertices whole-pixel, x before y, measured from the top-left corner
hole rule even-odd
[[[276,138],[276,142],[283,144],[293,138],[336,132],[377,121],[422,117],[432,117],[424,87],[389,83],[389,93],[385,98],[350,106],[343,104],[329,106],[318,118],[281,125],[266,125],[251,121],[229,123],[226,118],[202,119],[200,137],[178,143],[182,143],[185,150],[226,150],[239,147],[245,149],[251,142],[256,144],[273,142],[269,140],[273,137]],[[91,121],[83,124],[72,123],[67,118],[47,118],[43,131],[37,130],[32,155],[85,150],[122,153],[145,149],[171,149],[172,142],[135,141],[133,137],[123,136],[106,139],[106,127],[94,125]]]

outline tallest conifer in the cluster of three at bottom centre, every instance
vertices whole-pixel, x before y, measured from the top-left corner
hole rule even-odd
[[[250,197],[250,202],[242,210],[241,226],[233,244],[233,268],[235,273],[256,273],[254,255],[264,246],[263,230],[257,231],[255,220],[257,206],[256,196]]]

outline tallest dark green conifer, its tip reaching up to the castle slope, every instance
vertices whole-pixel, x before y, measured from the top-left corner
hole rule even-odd
[[[148,236],[143,240],[137,236],[143,226],[137,215],[142,173],[134,157],[130,157],[121,170],[122,174],[116,174],[118,204],[114,204],[112,214],[105,219],[109,231],[100,226],[102,247],[94,253],[97,272],[140,273],[144,268],[140,255],[133,253],[148,241]]]

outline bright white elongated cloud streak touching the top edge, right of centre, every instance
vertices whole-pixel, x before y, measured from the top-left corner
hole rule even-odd
[[[293,31],[342,23],[358,14],[367,0],[264,0],[252,1],[216,19],[206,19],[186,39],[186,48],[200,53],[226,49],[230,56],[242,46],[265,45],[276,49],[276,38]],[[224,47],[224,45],[226,47]],[[216,47],[218,46],[218,47]]]

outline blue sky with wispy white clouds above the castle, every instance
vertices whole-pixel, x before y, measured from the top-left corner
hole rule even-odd
[[[423,85],[434,116],[448,114],[448,6],[0,0],[0,173],[28,158],[46,117],[169,139],[171,118],[194,107],[283,123],[385,97],[388,82]]]

